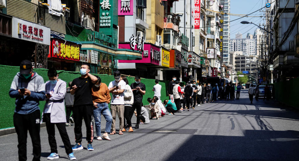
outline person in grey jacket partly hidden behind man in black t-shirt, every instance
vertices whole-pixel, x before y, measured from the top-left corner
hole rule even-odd
[[[69,121],[71,121],[72,124],[74,124],[73,115],[71,116],[71,113],[73,111],[73,105],[74,105],[74,95],[71,95],[71,84],[72,82],[69,82],[69,87],[66,88],[66,93],[64,96],[65,101],[65,108],[66,108],[66,123],[65,126],[71,126],[69,124]]]

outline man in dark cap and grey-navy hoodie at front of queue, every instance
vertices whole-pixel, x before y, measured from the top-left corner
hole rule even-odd
[[[18,135],[19,160],[27,160],[27,131],[33,146],[33,160],[40,160],[40,108],[39,101],[45,100],[44,79],[33,72],[29,60],[20,64],[20,72],[14,77],[9,96],[16,98],[13,124]]]

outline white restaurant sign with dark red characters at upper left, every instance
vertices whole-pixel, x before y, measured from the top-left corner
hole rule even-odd
[[[12,37],[50,45],[50,28],[12,17]]]

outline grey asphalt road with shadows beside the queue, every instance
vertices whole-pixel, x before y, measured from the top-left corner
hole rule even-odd
[[[148,125],[124,135],[110,135],[111,141],[94,140],[87,151],[83,127],[83,150],[74,151],[77,160],[299,160],[299,112],[275,101],[250,104],[247,91],[240,100],[217,101],[150,120]],[[133,116],[132,123],[136,122]],[[105,120],[102,117],[102,132]],[[116,121],[118,122],[118,120]],[[83,125],[84,126],[84,125]],[[119,127],[118,124],[116,127]],[[74,126],[67,127],[75,144]],[[173,130],[173,132],[157,132]],[[41,160],[50,154],[46,128],[40,130]],[[59,159],[67,160],[56,129]],[[0,136],[0,160],[17,160],[17,134]],[[27,157],[32,160],[28,134]]]

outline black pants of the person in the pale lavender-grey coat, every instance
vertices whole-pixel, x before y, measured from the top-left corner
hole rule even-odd
[[[60,137],[64,144],[66,154],[73,153],[71,142],[69,141],[69,135],[66,132],[65,123],[51,123],[50,113],[45,113],[43,117],[43,121],[46,123],[46,128],[48,132],[48,140],[51,148],[51,153],[57,152],[57,144],[55,140],[55,125],[59,131]]]

